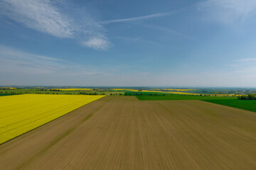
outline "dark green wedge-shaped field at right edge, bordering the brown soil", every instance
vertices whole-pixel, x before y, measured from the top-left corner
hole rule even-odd
[[[256,112],[256,101],[235,100],[235,99],[234,100],[225,100],[225,99],[224,100],[204,100],[204,101]]]

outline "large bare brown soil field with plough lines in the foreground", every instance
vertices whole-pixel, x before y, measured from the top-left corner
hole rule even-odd
[[[256,169],[256,113],[107,96],[0,145],[0,169]]]

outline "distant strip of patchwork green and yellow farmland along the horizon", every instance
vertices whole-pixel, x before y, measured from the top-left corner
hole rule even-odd
[[[238,96],[242,94],[256,93],[254,89],[152,89],[149,87],[142,88],[111,88],[111,87],[66,87],[59,86],[16,86],[16,87],[0,87],[0,94],[68,94],[68,95],[106,95],[106,96],[150,96],[159,94],[171,95],[191,95],[191,96]]]

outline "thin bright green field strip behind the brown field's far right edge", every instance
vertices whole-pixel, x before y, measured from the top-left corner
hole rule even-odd
[[[163,95],[163,94],[162,94]],[[191,96],[191,95],[171,95],[171,96],[136,96],[140,101],[170,101],[170,100],[238,100],[237,97],[215,97],[215,96]]]

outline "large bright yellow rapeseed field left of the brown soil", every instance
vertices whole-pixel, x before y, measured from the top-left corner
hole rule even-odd
[[[0,97],[0,144],[103,96],[23,94]]]

